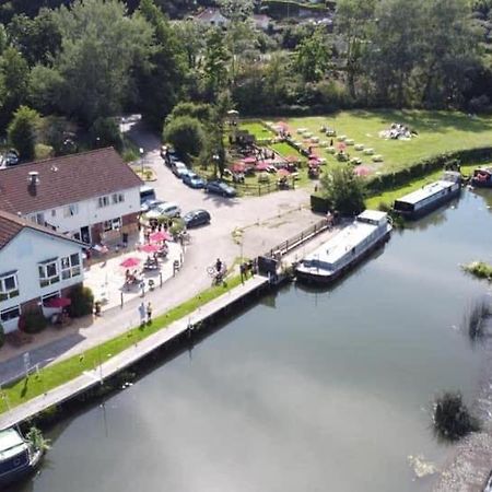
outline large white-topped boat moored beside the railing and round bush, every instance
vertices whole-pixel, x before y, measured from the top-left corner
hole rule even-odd
[[[329,284],[389,238],[393,225],[387,213],[365,210],[352,224],[327,241],[295,267],[297,280]]]

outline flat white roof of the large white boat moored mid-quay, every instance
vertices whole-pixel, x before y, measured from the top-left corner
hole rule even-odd
[[[307,255],[305,259],[316,259],[330,265],[336,263],[347,251],[350,251],[364,241],[375,229],[377,229],[377,225],[354,221],[321,247]]]

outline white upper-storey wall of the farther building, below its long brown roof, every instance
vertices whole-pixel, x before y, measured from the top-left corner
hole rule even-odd
[[[125,201],[121,203],[113,203],[113,194],[109,194],[110,204],[104,208],[98,208],[99,197],[79,201],[77,202],[78,213],[71,216],[65,216],[66,206],[58,207],[57,209],[44,210],[45,221],[49,225],[56,226],[57,231],[60,233],[78,233],[81,227],[91,226],[99,222],[109,221],[140,211],[140,187],[118,191],[118,194],[125,195]],[[67,203],[67,206],[69,204],[71,203]],[[55,210],[55,215],[51,214],[51,210]],[[35,214],[30,213],[27,216],[31,218],[32,215]]]

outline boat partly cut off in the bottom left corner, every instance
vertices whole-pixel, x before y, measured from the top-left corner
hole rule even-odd
[[[44,449],[24,440],[16,429],[0,431],[0,490],[34,471]]]

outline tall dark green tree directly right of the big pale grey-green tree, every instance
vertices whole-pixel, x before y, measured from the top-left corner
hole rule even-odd
[[[139,110],[155,128],[179,99],[186,56],[168,21],[152,0],[142,0],[138,13],[153,30],[149,62],[138,66]]]

